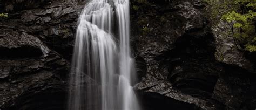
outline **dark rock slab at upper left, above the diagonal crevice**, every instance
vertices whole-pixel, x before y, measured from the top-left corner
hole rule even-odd
[[[29,1],[29,0],[28,0]],[[22,1],[18,4],[26,4]],[[8,1],[3,1],[8,4]],[[46,1],[41,1],[42,3]],[[40,4],[39,7],[26,8],[9,13],[8,21],[1,22],[6,28],[19,28],[26,33],[39,36],[51,49],[62,54],[66,59],[71,59],[73,40],[76,33],[79,11],[86,1],[71,3],[67,1],[51,1]],[[17,5],[16,2],[11,4]],[[31,4],[37,5],[37,1]],[[12,26],[12,27],[10,27]]]

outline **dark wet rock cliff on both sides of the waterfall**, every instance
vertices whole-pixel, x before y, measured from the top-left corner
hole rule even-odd
[[[86,1],[0,1],[0,109],[65,109],[73,39]],[[255,109],[254,54],[210,25],[201,2],[131,1],[144,109]],[[1,12],[1,11],[0,11]]]

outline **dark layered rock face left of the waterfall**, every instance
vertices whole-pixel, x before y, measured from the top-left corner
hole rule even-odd
[[[64,109],[80,6],[66,1],[1,3],[9,17],[0,22],[0,109]]]

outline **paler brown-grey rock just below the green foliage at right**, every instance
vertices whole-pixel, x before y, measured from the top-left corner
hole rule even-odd
[[[215,58],[225,64],[237,65],[247,70],[255,71],[254,63],[244,56],[244,52],[239,50],[234,38],[229,34],[230,31],[224,22],[220,22],[213,29],[217,46]]]

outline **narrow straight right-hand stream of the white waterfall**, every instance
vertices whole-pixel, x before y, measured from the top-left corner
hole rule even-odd
[[[119,47],[119,96],[122,96],[124,110],[139,109],[136,95],[133,92],[131,82],[134,77],[134,62],[130,53],[130,3],[129,0],[115,0]]]

